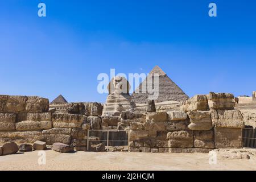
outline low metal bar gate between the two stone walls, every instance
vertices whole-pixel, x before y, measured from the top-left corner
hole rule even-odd
[[[119,130],[88,130],[87,151],[128,151],[128,135]]]

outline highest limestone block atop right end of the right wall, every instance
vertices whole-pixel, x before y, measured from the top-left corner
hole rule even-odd
[[[210,109],[234,109],[234,95],[231,93],[213,93],[207,95]]]

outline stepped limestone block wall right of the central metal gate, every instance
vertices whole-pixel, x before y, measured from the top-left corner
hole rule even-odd
[[[242,148],[244,122],[241,111],[234,109],[233,94],[197,95],[180,109],[132,118],[130,151],[208,152],[213,148]],[[122,114],[121,122],[127,121],[126,115],[131,113]]]

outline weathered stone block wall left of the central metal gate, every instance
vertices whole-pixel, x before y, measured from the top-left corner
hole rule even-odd
[[[0,145],[41,140],[86,150],[87,131],[101,129],[101,114],[102,106],[97,102],[72,103],[65,113],[51,113],[46,98],[0,96]]]

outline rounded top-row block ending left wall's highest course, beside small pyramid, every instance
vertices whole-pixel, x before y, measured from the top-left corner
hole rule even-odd
[[[32,96],[27,97],[26,111],[28,113],[43,113],[49,110],[49,100],[47,98]]]

